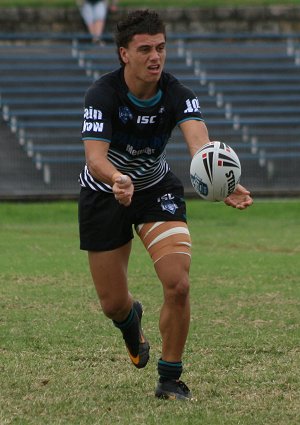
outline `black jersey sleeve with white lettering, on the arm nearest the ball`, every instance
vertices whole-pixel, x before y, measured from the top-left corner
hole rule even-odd
[[[172,96],[176,125],[190,119],[204,121],[198,97],[191,89],[182,84],[177,84],[172,90]]]

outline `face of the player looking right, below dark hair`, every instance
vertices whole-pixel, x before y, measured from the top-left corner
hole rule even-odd
[[[164,34],[136,34],[128,47],[121,47],[120,54],[126,73],[145,83],[157,82],[166,59]]]

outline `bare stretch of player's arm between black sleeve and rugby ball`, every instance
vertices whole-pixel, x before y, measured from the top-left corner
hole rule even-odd
[[[210,141],[207,127],[203,121],[190,119],[180,123],[179,127],[192,157]]]

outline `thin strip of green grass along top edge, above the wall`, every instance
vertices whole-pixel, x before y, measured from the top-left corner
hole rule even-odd
[[[74,7],[75,0],[0,0],[0,7],[34,6],[34,7]],[[299,0],[120,0],[119,7],[223,7],[223,6],[268,6],[268,5],[299,5]]]

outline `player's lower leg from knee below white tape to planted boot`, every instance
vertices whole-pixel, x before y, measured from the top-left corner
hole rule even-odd
[[[187,400],[192,397],[180,380],[190,324],[189,267],[190,258],[182,254],[166,255],[155,264],[164,291],[159,322],[162,356],[158,361],[159,381],[155,392],[158,398]]]

